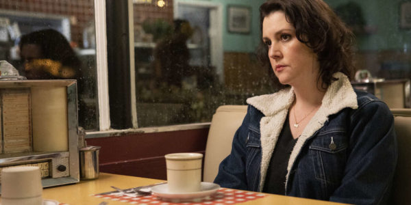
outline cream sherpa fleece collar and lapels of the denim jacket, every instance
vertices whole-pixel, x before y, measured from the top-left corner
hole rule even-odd
[[[357,95],[347,76],[341,72],[337,72],[334,74],[334,77],[338,80],[329,85],[327,92],[325,92],[323,97],[321,107],[316,111],[310,122],[308,122],[303,133],[301,133],[297,140],[297,143],[295,143],[295,147],[292,149],[288,161],[286,185],[290,169],[295,162],[295,159],[297,159],[297,155],[304,142],[323,126],[328,120],[328,116],[338,113],[346,107],[350,107],[351,109],[358,108]],[[279,133],[282,130],[288,114],[288,109],[294,101],[294,98],[294,90],[292,88],[286,88],[274,94],[256,96],[247,99],[249,105],[256,107],[256,109],[260,110],[265,115],[260,121],[260,140],[262,148],[260,191],[262,191],[264,186],[266,172],[269,167],[271,154],[275,148],[275,143],[277,143]]]

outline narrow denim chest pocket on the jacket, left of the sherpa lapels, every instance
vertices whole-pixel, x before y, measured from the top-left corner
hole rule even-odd
[[[245,159],[247,183],[251,190],[257,191],[260,183],[261,143],[260,133],[256,129],[249,129],[245,146],[247,147]]]

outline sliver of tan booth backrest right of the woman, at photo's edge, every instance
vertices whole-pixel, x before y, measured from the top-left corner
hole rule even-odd
[[[398,163],[395,170],[392,202],[411,203],[411,109],[391,109],[398,140]]]

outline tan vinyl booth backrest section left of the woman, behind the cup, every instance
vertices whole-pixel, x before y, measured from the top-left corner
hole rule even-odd
[[[203,181],[212,182],[219,165],[231,152],[234,133],[247,113],[247,105],[222,105],[212,116],[204,155]]]

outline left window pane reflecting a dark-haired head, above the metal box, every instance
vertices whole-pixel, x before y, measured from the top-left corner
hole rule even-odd
[[[98,129],[93,2],[0,2],[0,59],[27,79],[77,79],[86,130]]]

